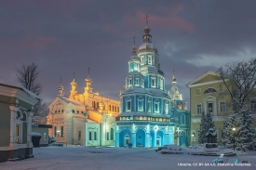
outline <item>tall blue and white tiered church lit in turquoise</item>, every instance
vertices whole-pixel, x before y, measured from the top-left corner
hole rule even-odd
[[[189,145],[190,112],[176,84],[166,89],[157,48],[146,26],[138,51],[132,47],[124,90],[120,91],[120,114],[116,116],[115,146],[160,147]],[[175,77],[174,77],[175,78]]]

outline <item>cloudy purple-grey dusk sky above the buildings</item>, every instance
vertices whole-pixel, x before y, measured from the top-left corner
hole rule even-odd
[[[95,92],[118,96],[125,85],[133,36],[142,43],[145,16],[170,88],[172,71],[186,85],[227,62],[256,57],[255,0],[0,0],[0,80],[17,83],[15,68],[35,62],[42,98],[66,96],[75,72]]]

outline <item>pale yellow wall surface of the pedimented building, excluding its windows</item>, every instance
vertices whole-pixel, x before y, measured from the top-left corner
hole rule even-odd
[[[236,89],[235,85],[231,82],[227,81],[227,85],[231,91]],[[216,92],[213,93],[204,93],[208,88],[216,89]],[[230,96],[222,97],[220,94],[222,91],[227,90],[225,85],[223,85],[222,81],[218,81],[216,75],[208,74],[206,77],[201,80],[195,82],[194,85],[190,86],[190,108],[191,108],[191,134],[195,133],[195,137],[191,137],[191,144],[198,143],[198,130],[200,129],[200,121],[201,121],[201,113],[197,111],[197,104],[201,104],[202,111],[205,113],[208,112],[208,103],[212,102],[214,107],[214,101],[216,101],[216,106],[213,108],[213,112],[211,116],[213,118],[216,133],[217,133],[217,142],[222,144],[222,129],[223,129],[223,121],[226,116],[232,113],[233,108],[229,103],[231,103]],[[198,93],[200,91],[200,93]],[[249,97],[246,98],[245,103],[249,103],[249,98],[256,98],[256,91],[253,90]],[[221,102],[225,102],[225,111],[221,111]],[[255,115],[255,111],[252,111],[253,115]],[[254,123],[256,120],[254,119]],[[256,125],[256,124],[254,124]]]

